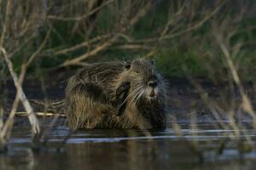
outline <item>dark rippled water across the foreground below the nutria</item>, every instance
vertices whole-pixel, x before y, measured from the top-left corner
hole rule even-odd
[[[234,131],[201,124],[198,130],[183,126],[183,138],[168,128],[164,131],[81,130],[67,139],[65,126],[49,134],[47,147],[32,150],[27,126],[15,127],[9,152],[0,155],[0,169],[253,169],[256,152],[240,154]],[[241,139],[256,139],[255,130],[241,131]],[[66,144],[63,141],[67,139]],[[192,142],[198,141],[198,154]],[[226,142],[226,149],[218,148]],[[203,150],[203,151],[202,151]]]

